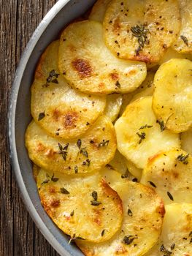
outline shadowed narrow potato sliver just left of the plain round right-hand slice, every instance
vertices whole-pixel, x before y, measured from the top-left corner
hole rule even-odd
[[[153,94],[153,80],[155,73],[153,71],[147,72],[147,76],[141,86],[139,86],[135,91],[129,94],[123,94],[123,102],[120,108],[120,116],[126,110],[127,105],[133,102],[135,99],[139,99],[144,96],[151,96]]]

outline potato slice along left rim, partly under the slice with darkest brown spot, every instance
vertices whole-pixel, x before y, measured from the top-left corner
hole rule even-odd
[[[75,138],[104,112],[105,97],[74,91],[59,75],[59,41],[48,46],[39,61],[31,87],[31,114],[50,135]]]

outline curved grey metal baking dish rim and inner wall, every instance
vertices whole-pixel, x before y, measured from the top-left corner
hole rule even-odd
[[[29,214],[47,241],[62,256],[82,255],[69,238],[58,229],[47,216],[39,200],[37,187],[32,174],[31,161],[25,147],[24,135],[31,121],[30,86],[39,56],[47,45],[58,38],[59,32],[67,23],[87,11],[95,0],[60,0],[47,13],[31,37],[15,73],[12,93],[9,99],[9,147],[12,167],[18,182],[23,201]]]

